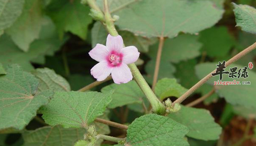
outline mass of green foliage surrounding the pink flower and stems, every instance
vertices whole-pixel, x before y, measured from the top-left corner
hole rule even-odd
[[[136,64],[150,85],[159,38],[165,38],[155,87],[160,101],[174,101],[217,62],[256,41],[255,0],[108,1],[125,45],[140,51]],[[96,2],[104,10],[103,0]],[[90,69],[96,61],[88,52],[108,35],[90,15],[80,0],[0,0],[0,146],[73,146],[78,140],[76,146],[91,146],[83,141],[91,125],[98,134],[127,136],[125,146],[256,146],[256,67],[248,69],[249,78],[236,79],[251,85],[213,86],[213,77],[168,116],[148,114],[150,104],[134,80],[79,92],[95,81]],[[249,62],[256,64],[256,50],[230,67]],[[185,106],[212,90],[202,103]],[[128,130],[94,122],[97,117]]]

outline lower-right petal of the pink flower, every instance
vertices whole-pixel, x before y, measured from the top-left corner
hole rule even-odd
[[[114,67],[111,76],[116,84],[127,83],[133,79],[132,72],[125,63],[122,63],[119,67]]]

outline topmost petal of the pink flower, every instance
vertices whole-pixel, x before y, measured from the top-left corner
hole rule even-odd
[[[120,52],[120,50],[123,48],[123,40],[122,36],[111,36],[110,34],[107,37],[107,43],[106,46],[111,51],[114,50],[117,53]]]

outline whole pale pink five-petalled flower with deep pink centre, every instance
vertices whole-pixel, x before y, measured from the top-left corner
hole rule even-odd
[[[114,82],[121,84],[133,79],[127,65],[137,61],[140,53],[134,46],[123,48],[122,36],[108,35],[106,46],[97,44],[89,55],[99,62],[91,68],[91,75],[95,79],[102,81],[111,73]]]

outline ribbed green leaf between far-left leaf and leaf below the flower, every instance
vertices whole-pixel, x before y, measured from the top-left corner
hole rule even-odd
[[[37,68],[31,72],[39,79],[38,90],[54,89],[54,91],[70,91],[70,85],[67,80],[56,74],[49,68]]]

